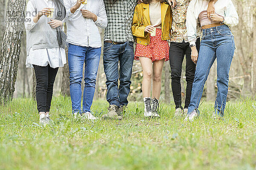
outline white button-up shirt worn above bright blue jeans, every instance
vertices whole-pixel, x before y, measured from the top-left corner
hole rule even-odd
[[[102,46],[99,34],[100,28],[106,28],[108,18],[103,0],[87,0],[87,4],[81,4],[75,13],[71,13],[70,8],[76,4],[77,0],[64,0],[67,9],[67,42],[84,47],[99,48]],[[81,9],[86,9],[97,15],[97,20],[82,16]]]

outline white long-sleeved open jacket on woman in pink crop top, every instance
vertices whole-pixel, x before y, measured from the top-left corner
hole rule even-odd
[[[196,26],[199,14],[207,11],[209,0],[192,0],[186,15],[186,28],[190,45],[195,45]],[[215,13],[225,17],[224,24],[227,26],[236,26],[239,23],[239,17],[236,8],[231,0],[218,0],[215,3]]]

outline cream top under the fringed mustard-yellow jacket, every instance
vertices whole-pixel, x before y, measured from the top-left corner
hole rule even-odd
[[[161,3],[149,3],[150,24],[153,27],[162,28]]]

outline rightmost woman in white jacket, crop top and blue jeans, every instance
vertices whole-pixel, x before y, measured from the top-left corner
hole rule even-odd
[[[186,16],[186,28],[192,50],[191,58],[195,62],[195,79],[186,120],[193,121],[199,115],[199,104],[204,84],[213,62],[217,59],[217,86],[213,118],[222,119],[227,102],[230,65],[235,51],[234,36],[230,27],[239,23],[239,16],[231,0],[218,0],[215,13],[207,14],[209,0],[192,0]],[[200,51],[195,47],[197,19],[200,20],[203,36]]]

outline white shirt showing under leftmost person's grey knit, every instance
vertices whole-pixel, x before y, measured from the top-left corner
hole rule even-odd
[[[44,0],[47,2],[50,8],[54,8],[55,4],[52,0]],[[29,1],[26,7],[26,19],[25,28],[31,30],[37,23],[34,23],[33,17],[35,17],[35,8]],[[40,20],[40,19],[39,19]],[[66,53],[64,48],[44,48],[29,50],[29,54],[26,57],[26,67],[33,67],[34,65],[47,66],[48,64],[52,68],[63,67],[66,64]]]

